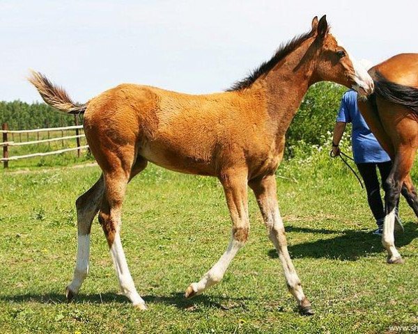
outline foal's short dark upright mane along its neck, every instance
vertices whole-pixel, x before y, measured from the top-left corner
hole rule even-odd
[[[299,47],[305,40],[311,38],[314,35],[314,31],[309,31],[309,33],[304,33],[302,35],[295,36],[292,40],[288,41],[287,43],[281,45],[279,49],[274,53],[274,56],[270,59],[270,61],[265,61],[260,66],[258,66],[255,70],[253,70],[245,79],[240,81],[235,81],[235,83],[231,86],[231,88],[226,89],[227,92],[233,92],[235,90],[242,90],[245,88],[249,88],[254,81],[261,77],[261,75],[270,72],[273,67],[279,63],[284,57],[290,54],[293,50]]]

